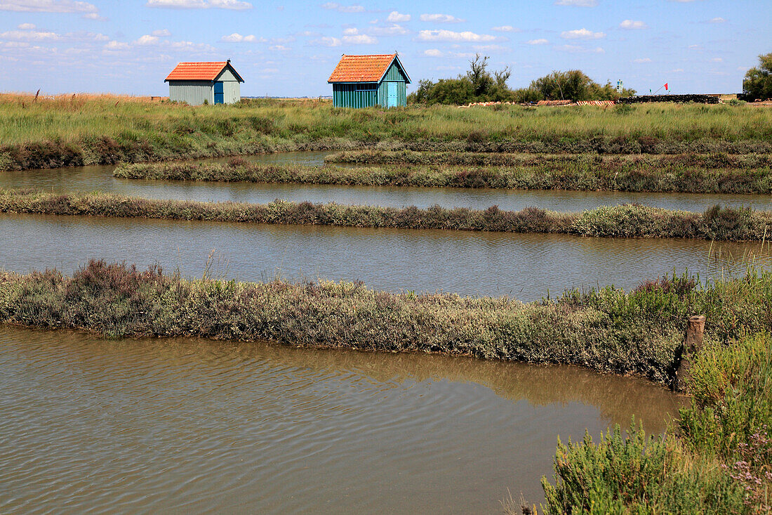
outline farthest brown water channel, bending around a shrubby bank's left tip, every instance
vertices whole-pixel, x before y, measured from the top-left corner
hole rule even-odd
[[[252,155],[256,162],[322,165],[326,152],[286,152]],[[203,161],[225,162],[228,159]],[[704,211],[720,203],[772,210],[768,195],[704,195],[694,193],[579,192],[567,190],[402,188],[392,186],[325,186],[313,184],[257,184],[249,182],[174,182],[115,179],[113,166],[83,166],[53,170],[0,172],[0,187],[36,188],[61,193],[103,191],[154,199],[268,203],[276,199],[337,202],[377,206],[419,206],[503,210],[538,206],[554,211],[583,211],[598,206],[639,203],[672,210]]]

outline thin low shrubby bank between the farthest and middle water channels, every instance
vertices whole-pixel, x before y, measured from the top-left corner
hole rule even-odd
[[[708,240],[765,240],[772,227],[770,212],[720,206],[704,213],[631,204],[598,207],[582,213],[556,213],[536,207],[503,211],[497,206],[487,210],[439,206],[422,210],[415,206],[343,206],[283,200],[268,204],[212,203],[153,200],[110,193],[58,194],[28,190],[0,190],[0,212]]]

